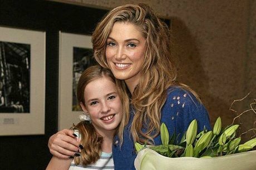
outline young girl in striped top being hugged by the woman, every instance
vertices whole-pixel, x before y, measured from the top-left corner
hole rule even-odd
[[[122,107],[126,100],[121,96],[123,92],[117,89],[110,70],[99,65],[86,69],[77,85],[77,99],[85,114],[73,127],[83,149],[75,153],[73,161],[53,156],[47,169],[114,169],[112,141],[119,125],[123,126],[120,122],[126,112]]]

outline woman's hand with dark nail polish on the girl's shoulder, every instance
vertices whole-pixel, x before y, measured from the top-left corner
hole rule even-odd
[[[52,135],[49,138],[48,147],[54,156],[63,159],[79,156],[80,149],[83,149],[73,131],[67,129]]]

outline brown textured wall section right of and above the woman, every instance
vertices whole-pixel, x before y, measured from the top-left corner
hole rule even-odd
[[[110,9],[125,3],[147,3],[159,16],[171,19],[173,54],[179,65],[179,80],[199,93],[211,122],[221,116],[232,122],[229,106],[242,99],[237,109],[249,107],[256,98],[256,1],[254,0],[159,0],[85,1],[57,0]],[[256,121],[251,112],[245,128]]]

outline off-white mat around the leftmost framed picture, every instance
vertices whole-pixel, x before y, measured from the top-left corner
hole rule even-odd
[[[0,135],[45,134],[46,33],[0,27],[0,41],[30,45],[29,112],[1,112]]]

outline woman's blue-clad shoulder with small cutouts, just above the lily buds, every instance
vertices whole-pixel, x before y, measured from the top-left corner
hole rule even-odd
[[[177,126],[184,125],[184,130],[194,119],[198,120],[200,129],[204,126],[210,129],[208,112],[198,97],[183,87],[170,87],[161,111],[161,121],[170,123],[171,120]]]

